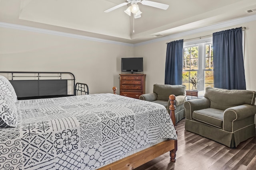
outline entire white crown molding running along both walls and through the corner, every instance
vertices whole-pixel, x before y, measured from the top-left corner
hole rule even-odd
[[[0,27],[19,29],[19,30],[24,30],[24,31],[32,31],[32,32],[37,32],[37,33],[46,33],[46,34],[51,34],[51,35],[63,36],[63,37],[85,39],[85,40],[89,40],[89,41],[98,41],[98,42],[102,42],[102,43],[125,45],[125,46],[129,46],[129,47],[137,47],[140,45],[146,45],[146,44],[155,43],[155,42],[159,42],[159,41],[168,41],[168,40],[170,41],[170,39],[184,37],[187,35],[192,35],[192,34],[204,32],[204,31],[210,31],[210,30],[214,30],[214,29],[219,29],[219,28],[228,27],[228,26],[237,25],[240,23],[246,23],[246,22],[255,21],[255,20],[256,20],[256,15],[247,16],[247,17],[243,17],[243,18],[237,18],[234,20],[229,20],[229,21],[217,23],[214,25],[210,25],[210,26],[206,26],[206,27],[202,27],[202,28],[198,28],[198,29],[193,29],[190,31],[185,31],[182,33],[176,33],[176,34],[172,34],[172,35],[168,35],[165,37],[160,37],[160,38],[156,38],[153,40],[144,41],[144,42],[136,43],[136,44],[123,43],[120,41],[111,41],[111,40],[107,40],[107,39],[100,39],[100,38],[88,37],[88,36],[84,36],[84,35],[64,33],[64,32],[60,32],[60,31],[52,31],[52,30],[48,30],[48,29],[28,27],[28,26],[24,26],[24,25],[17,25],[17,24],[12,24],[12,23],[5,23],[5,22],[0,22]]]

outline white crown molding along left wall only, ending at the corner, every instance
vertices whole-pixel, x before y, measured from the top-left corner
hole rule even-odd
[[[107,39],[100,39],[100,38],[88,37],[88,36],[84,36],[84,35],[64,33],[64,32],[60,32],[60,31],[52,31],[52,30],[48,30],[48,29],[41,29],[41,28],[35,28],[35,27],[28,27],[28,26],[17,25],[17,24],[12,24],[12,23],[0,22],[0,27],[11,28],[11,29],[19,29],[19,30],[24,30],[24,31],[32,31],[32,32],[37,32],[37,33],[46,33],[46,34],[58,35],[58,36],[62,36],[62,37],[71,37],[71,38],[77,38],[77,39],[85,39],[85,40],[89,40],[89,41],[98,41],[98,42],[102,42],[102,43],[110,43],[110,44],[117,44],[117,45],[125,45],[125,46],[129,46],[129,47],[134,47],[134,44],[131,44],[131,43],[111,41],[111,40],[107,40]]]

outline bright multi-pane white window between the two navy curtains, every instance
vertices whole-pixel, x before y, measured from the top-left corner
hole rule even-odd
[[[207,86],[213,87],[212,42],[184,43],[182,84],[186,85],[186,90],[202,91]]]

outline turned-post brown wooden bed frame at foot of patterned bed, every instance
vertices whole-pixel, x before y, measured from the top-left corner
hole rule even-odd
[[[113,92],[116,94],[116,87],[113,87]],[[174,95],[170,95],[170,117],[172,119],[173,125],[175,127],[176,125],[176,119],[174,115],[175,100]],[[176,127],[175,127],[176,129]],[[176,131],[177,133],[177,131]],[[176,151],[177,151],[177,140],[166,140],[161,143],[158,143],[152,147],[149,147],[147,149],[141,150],[140,152],[137,152],[135,154],[132,154],[126,158],[122,158],[121,160],[118,160],[116,162],[113,162],[111,164],[108,164],[102,168],[99,168],[98,170],[132,170],[134,168],[137,168],[146,162],[149,162],[150,160],[153,160],[154,158],[166,153],[170,152],[170,161],[175,162],[176,161]]]

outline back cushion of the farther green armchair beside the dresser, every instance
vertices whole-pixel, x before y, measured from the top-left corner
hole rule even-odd
[[[169,100],[170,94],[175,96],[185,95],[185,85],[154,84],[153,92],[157,94],[157,100]]]

